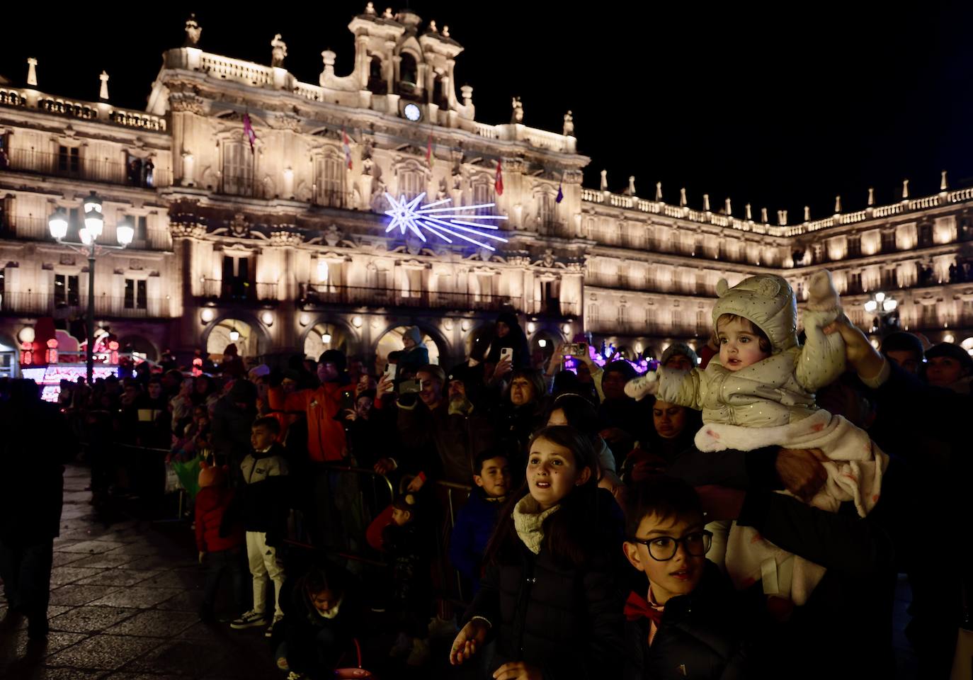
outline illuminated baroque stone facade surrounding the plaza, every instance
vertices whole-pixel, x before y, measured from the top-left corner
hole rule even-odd
[[[0,86],[0,341],[12,350],[39,316],[85,313],[87,261],[54,242],[47,217],[68,209],[76,236],[92,190],[102,240],[124,218],[135,228],[126,250],[97,261],[98,324],[157,356],[222,353],[231,334],[249,356],[383,356],[418,325],[449,364],[505,309],[540,351],[590,331],[658,355],[708,333],[719,278],[774,271],[803,290],[822,267],[866,328],[861,303],[877,290],[895,296],[903,327],[934,341],[973,327],[973,282],[961,282],[973,277],[959,262],[973,190],[944,179],[937,196],[788,226],[783,214],[750,219],[749,206],[736,217],[729,203],[640,198],[631,182],[613,194],[604,174],[583,189],[589,159],[569,113],[560,132],[535,129],[515,99],[510,124],[476,121],[472,88],[457,94],[453,82],[462,48],[448,27],[370,4],[348,28],[350,73],[336,75],[326,51],[317,84],[288,72],[280,36],[266,66],[203,52],[191,20],[186,45],[162,55],[145,112],[112,106],[104,75],[96,102],[42,93],[33,63],[26,87]],[[468,212],[506,216],[507,240],[490,250],[386,233],[386,193],[495,203]]]

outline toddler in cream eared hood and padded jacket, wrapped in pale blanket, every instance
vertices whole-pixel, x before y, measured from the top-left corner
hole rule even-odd
[[[841,313],[827,271],[811,277],[807,340],[797,340],[797,304],[790,285],[771,274],[730,287],[717,285],[713,327],[720,355],[705,370],[660,369],[631,380],[626,393],[703,412],[696,446],[704,451],[760,447],[819,448],[828,481],[811,504],[830,512],[853,501],[861,517],[879,500],[887,456],[868,434],[841,415],[814,405],[814,392],[845,371],[845,344],[823,328]],[[761,337],[763,336],[763,337]],[[717,541],[714,540],[714,547]],[[715,556],[719,560],[718,551]],[[824,569],[780,550],[752,528],[733,524],[727,537],[726,570],[738,588],[763,580],[765,592],[804,604]]]

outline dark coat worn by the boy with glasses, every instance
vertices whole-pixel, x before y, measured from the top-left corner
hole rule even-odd
[[[626,622],[625,680],[731,680],[744,668],[745,622],[736,592],[719,568],[706,561],[696,590],[666,603],[662,624],[649,647],[648,619]]]

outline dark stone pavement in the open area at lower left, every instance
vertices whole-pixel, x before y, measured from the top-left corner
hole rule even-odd
[[[263,628],[199,622],[204,574],[188,527],[105,527],[93,517],[88,483],[87,469],[67,469],[47,645],[28,646],[25,624],[0,632],[0,678],[282,679]]]

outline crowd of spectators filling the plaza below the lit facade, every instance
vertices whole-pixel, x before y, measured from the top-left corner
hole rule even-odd
[[[200,618],[265,629],[295,677],[327,677],[376,613],[391,622],[391,659],[427,664],[430,638],[446,635],[450,662],[476,659],[486,677],[891,677],[897,574],[912,590],[920,677],[948,677],[957,629],[970,626],[973,359],[907,333],[879,352],[847,319],[825,333],[843,339],[847,372],[817,405],[889,457],[864,517],[804,502],[828,481],[819,451],[703,452],[699,411],[632,399],[632,365],[601,367],[583,342],[576,370],[563,369],[565,345],[537,365],[509,313],[480,360],[449,371],[410,329],[374,371],[337,350],[248,368],[231,345],[213,375],[173,362],[64,384],[59,412],[12,381],[3,446],[22,469],[0,478],[7,598],[46,633],[43,584],[17,575],[45,560],[50,572],[56,519],[44,518],[65,461],[18,451],[30,448],[25,423],[63,417],[99,444],[85,450],[106,521],[129,498],[161,512],[167,471],[179,478],[210,573]],[[704,369],[719,341],[699,355],[671,344],[660,366]],[[381,479],[390,496],[374,492]],[[26,527],[10,520],[23,504],[37,506]],[[795,606],[766,579],[735,587],[706,559],[721,550],[717,520],[823,567],[810,598]],[[233,611],[219,611],[221,575]]]

